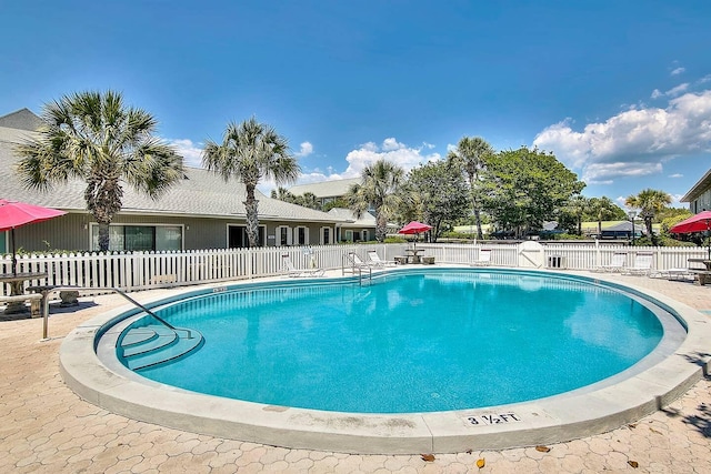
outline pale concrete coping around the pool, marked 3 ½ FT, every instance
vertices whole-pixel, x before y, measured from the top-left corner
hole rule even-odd
[[[60,373],[67,385],[82,399],[130,418],[268,445],[360,454],[500,450],[585,437],[632,423],[660,410],[703,377],[709,363],[707,345],[711,341],[711,324],[699,311],[651,290],[612,281],[604,274],[544,273],[600,280],[647,294],[673,309],[685,324],[688,335],[673,354],[661,362],[594,391],[579,390],[487,409],[359,414],[273,406],[198,394],[140,377],[118,360],[107,363],[97,353],[106,351],[107,346],[94,347],[97,334],[104,324],[133,309],[127,305],[84,322],[66,337],[60,349]],[[230,285],[240,283],[254,281],[230,282]],[[224,283],[201,288],[223,286]],[[182,289],[181,292],[190,293],[191,290]],[[151,301],[164,299],[161,295]]]

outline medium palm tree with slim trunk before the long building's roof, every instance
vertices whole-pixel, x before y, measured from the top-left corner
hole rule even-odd
[[[227,125],[222,143],[207,140],[202,150],[202,164],[229,181],[241,180],[247,190],[247,238],[250,246],[259,244],[259,201],[254,190],[262,178],[277,184],[294,182],[301,169],[289,152],[286,138],[269,125],[259,123],[253,117],[240,124]]]

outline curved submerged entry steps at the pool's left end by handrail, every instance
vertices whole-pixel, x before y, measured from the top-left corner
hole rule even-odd
[[[190,330],[190,337],[184,332],[160,324],[132,327],[123,335],[119,352],[133,371],[164,364],[197,351],[204,343],[198,331]]]

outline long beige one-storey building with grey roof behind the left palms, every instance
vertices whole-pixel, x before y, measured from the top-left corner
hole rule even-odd
[[[87,211],[86,184],[71,180],[48,192],[22,185],[16,172],[14,147],[41,123],[27,109],[0,117],[0,198],[67,211],[67,215],[16,229],[17,248],[26,251],[98,249],[98,224]],[[224,182],[199,168],[187,168],[182,182],[153,201],[123,188],[123,208],[110,228],[111,250],[170,251],[248,245],[244,185]],[[334,243],[340,216],[274,200],[258,192],[260,244]],[[8,251],[0,232],[0,252]]]

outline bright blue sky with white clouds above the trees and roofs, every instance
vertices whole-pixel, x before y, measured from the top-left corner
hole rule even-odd
[[[711,2],[0,0],[0,114],[121,91],[199,165],[254,115],[300,183],[462,137],[552,151],[613,200],[711,168]],[[270,188],[269,183],[262,186]],[[677,203],[678,204],[678,203]],[[678,204],[681,205],[681,204]]]

